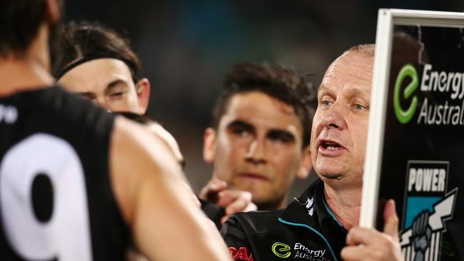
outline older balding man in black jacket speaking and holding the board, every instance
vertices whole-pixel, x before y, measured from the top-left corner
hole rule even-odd
[[[383,232],[357,227],[374,49],[350,48],[323,77],[311,131],[313,168],[321,180],[284,210],[240,213],[223,225],[236,260],[402,258],[393,200],[385,205]]]

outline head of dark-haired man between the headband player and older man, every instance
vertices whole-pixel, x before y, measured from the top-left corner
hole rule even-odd
[[[285,68],[233,67],[204,135],[203,158],[213,164],[213,180],[201,197],[223,188],[246,190],[259,210],[283,208],[293,180],[311,169],[310,98],[310,88]]]

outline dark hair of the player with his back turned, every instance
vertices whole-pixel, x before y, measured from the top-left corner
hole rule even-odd
[[[0,57],[24,54],[45,19],[46,0],[0,1]]]

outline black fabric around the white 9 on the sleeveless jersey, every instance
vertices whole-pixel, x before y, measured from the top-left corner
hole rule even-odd
[[[0,162],[4,162],[5,153],[11,147],[36,133],[66,140],[78,155],[85,176],[84,197],[89,210],[93,260],[123,260],[129,242],[128,227],[116,205],[109,179],[109,142],[114,116],[59,87],[0,98],[0,115],[2,108],[16,108],[17,120],[11,123],[0,116]],[[72,208],[72,203],[69,204]],[[3,221],[0,260],[21,260],[11,249]]]

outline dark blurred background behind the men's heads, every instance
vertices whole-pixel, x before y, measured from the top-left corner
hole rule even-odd
[[[348,47],[375,41],[379,8],[462,12],[464,0],[71,0],[64,20],[100,21],[131,40],[151,81],[148,115],[178,140],[198,192],[212,171],[203,131],[231,66],[280,63],[318,85]]]

